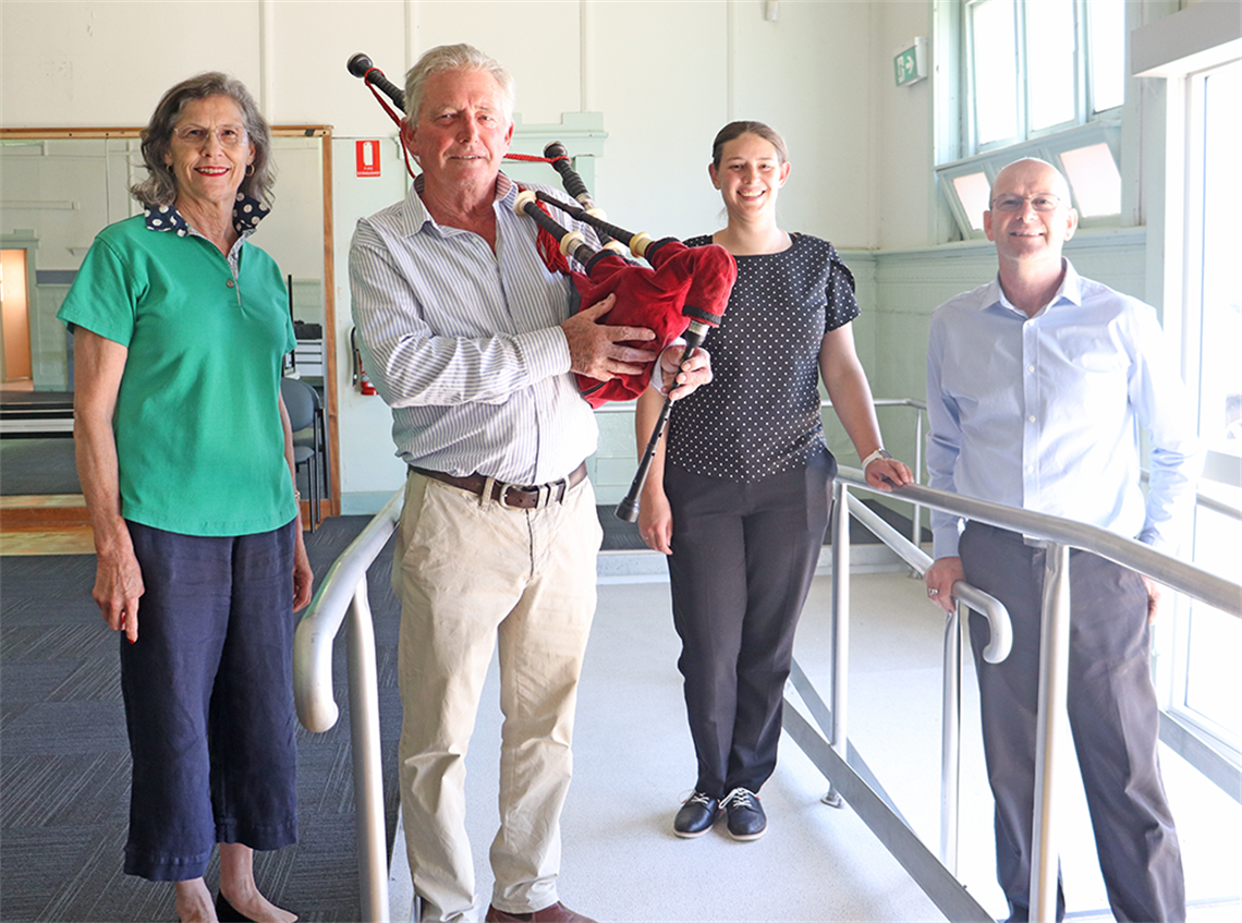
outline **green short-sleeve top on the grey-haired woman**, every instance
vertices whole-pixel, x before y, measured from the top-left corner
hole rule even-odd
[[[271,532],[297,514],[278,405],[296,344],[281,271],[248,242],[235,271],[184,222],[159,224],[135,215],[101,231],[57,313],[129,350],[113,416],[120,513],[186,535]]]

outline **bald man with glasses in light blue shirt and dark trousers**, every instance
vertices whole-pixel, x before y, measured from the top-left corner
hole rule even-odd
[[[1155,311],[1081,277],[1061,251],[1077,229],[1064,178],[1018,160],[992,184],[984,230],[996,278],[941,304],[928,345],[933,487],[1061,516],[1175,552],[1199,475],[1195,414]],[[1139,484],[1139,427],[1151,443]],[[997,878],[1010,921],[1030,911],[1042,548],[933,513],[929,598],[956,580],[1013,620],[1013,651],[986,663],[970,621],[984,748],[996,799]],[[1149,666],[1155,584],[1086,552],[1071,559],[1068,711],[1109,902],[1119,921],[1184,921],[1181,855],[1160,780]],[[1057,919],[1064,916],[1058,887]]]

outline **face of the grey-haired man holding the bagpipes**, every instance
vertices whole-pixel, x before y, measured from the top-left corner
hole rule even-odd
[[[427,77],[422,108],[401,128],[424,183],[448,190],[496,184],[513,139],[513,119],[496,78],[486,71],[442,71]]]

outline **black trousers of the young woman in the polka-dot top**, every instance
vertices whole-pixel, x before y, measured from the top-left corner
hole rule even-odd
[[[759,791],[776,768],[794,632],[828,522],[831,455],[754,483],[669,465],[668,575],[696,789]]]

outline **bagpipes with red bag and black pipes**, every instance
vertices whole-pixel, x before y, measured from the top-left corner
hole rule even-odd
[[[400,109],[405,108],[405,93],[365,55],[354,55],[347,67],[351,75],[363,78],[389,117],[400,124],[401,117],[376,91],[383,91]],[[538,246],[545,265],[549,270],[561,272],[573,280],[581,306],[597,304],[607,296],[615,294],[616,302],[601,318],[602,323],[617,327],[646,327],[656,334],[652,340],[628,342],[626,345],[655,352],[658,357],[678,338],[683,338],[684,357],[703,343],[710,328],[719,327],[738,276],[737,263],[729,251],[715,243],[687,247],[674,237],[653,241],[646,232],[632,234],[610,224],[591,201],[586,184],[574,170],[569,153],[560,142],[548,144],[543,158],[513,154],[505,157],[517,160],[542,160],[560,174],[565,190],[574,198],[576,205],[543,190],[522,189],[514,210],[519,215],[529,216],[539,226]],[[406,166],[409,168],[409,152],[406,152]],[[595,250],[580,231],[570,231],[559,224],[549,212],[546,207],[549,205],[594,229],[602,248]],[[617,242],[625,245],[633,256],[646,260],[650,266],[622,256]],[[584,272],[570,268],[566,257],[573,257],[580,263]],[[647,389],[656,365],[658,358],[652,366],[640,374],[619,375],[607,381],[580,374],[576,379],[582,396],[592,407],[599,407],[607,401],[637,398]],[[616,508],[617,517],[626,522],[638,518],[638,493],[647,478],[671,406],[672,401],[666,398],[630,493]]]

